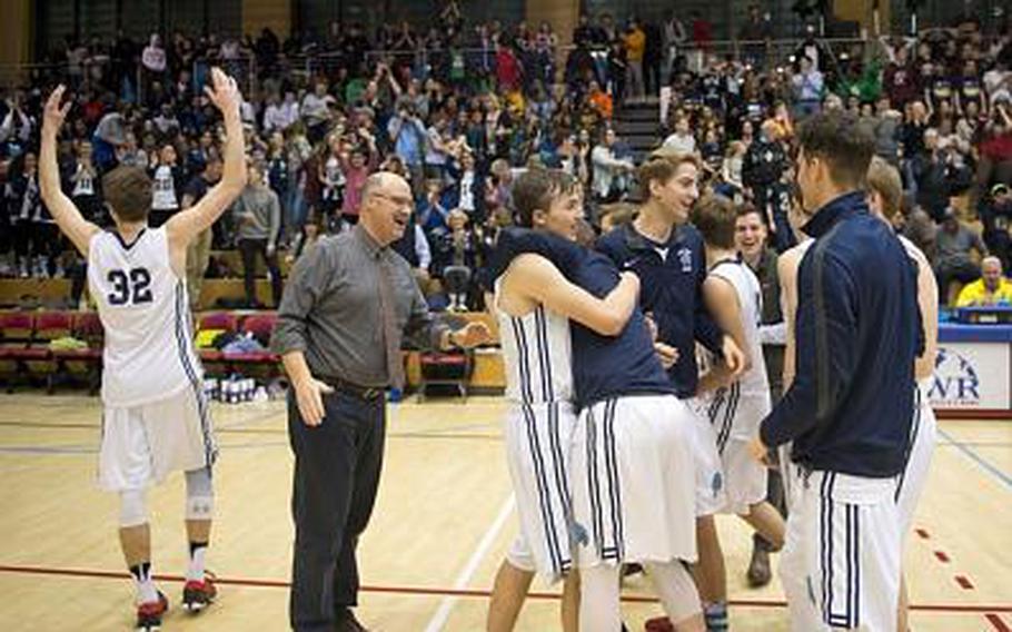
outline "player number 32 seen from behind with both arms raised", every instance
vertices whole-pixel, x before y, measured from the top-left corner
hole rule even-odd
[[[106,329],[102,372],[102,443],[99,484],[120,495],[119,539],[137,589],[137,629],[157,630],[168,600],[151,580],[147,487],[173,471],[186,472],[186,530],[190,562],[182,605],[199,612],[216,596],[205,574],[217,446],[204,398],[202,369],[192,344],[186,290],[189,243],[228,208],[246,184],[241,97],[235,80],[212,70],[207,95],[225,117],[228,141],[221,181],[194,207],[148,228],[151,181],[136,167],[103,178],[116,228],[86,221],[60,190],[57,135],[70,102],[63,87],[46,103],[42,126],[42,197],[60,229],[88,259],[89,290]]]

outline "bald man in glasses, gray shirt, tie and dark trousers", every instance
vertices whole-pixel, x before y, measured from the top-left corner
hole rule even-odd
[[[411,268],[389,245],[414,200],[407,182],[374,174],[359,224],[299,258],[281,299],[272,345],[292,388],[295,452],[294,630],[365,630],[355,549],[376,498],[386,425],[384,391],[404,385],[403,336],[425,348],[472,347],[488,329],[437,324]]]

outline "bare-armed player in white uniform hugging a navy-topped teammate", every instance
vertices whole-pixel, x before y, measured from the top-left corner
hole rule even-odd
[[[517,179],[513,198],[522,226],[576,240],[583,218],[578,181],[562,171],[530,170]],[[513,630],[536,570],[552,582],[566,577],[563,629],[575,632],[569,458],[576,408],[569,320],[603,336],[617,335],[636,306],[639,279],[623,274],[602,299],[530,253],[513,260],[495,289],[489,304],[499,322],[506,366],[506,455],[520,534],[496,574],[487,629]]]

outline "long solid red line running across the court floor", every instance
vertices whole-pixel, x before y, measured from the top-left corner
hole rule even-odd
[[[27,566],[13,564],[0,564],[0,573],[21,573],[28,575],[56,575],[62,577],[99,577],[107,580],[126,580],[130,574],[123,571],[100,571],[93,569],[59,569],[53,566]],[[156,574],[156,580],[163,582],[186,581],[182,575]],[[255,577],[222,577],[215,580],[220,585],[249,586],[249,587],[278,587],[287,589],[291,583],[286,580],[267,580]],[[446,589],[439,586],[380,586],[364,585],[359,590],[373,593],[390,594],[414,594],[414,595],[435,595],[435,596],[473,596],[488,598],[489,591],[483,589]],[[530,599],[559,599],[558,593],[532,592],[527,595]],[[629,594],[623,595],[622,601],[628,603],[657,603],[657,599],[647,595]],[[744,608],[784,608],[786,603],[782,600],[767,599],[733,599],[728,601],[730,605]],[[912,604],[911,610],[920,612],[966,612],[966,613],[1012,613],[1012,604],[959,604],[959,603],[922,603]],[[998,615],[994,615],[998,616]],[[1009,631],[1012,632],[1012,631]]]

